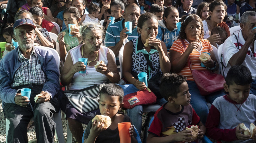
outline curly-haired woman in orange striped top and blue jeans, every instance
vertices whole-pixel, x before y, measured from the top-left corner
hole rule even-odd
[[[217,71],[219,65],[218,62],[216,62],[217,60],[210,42],[203,39],[203,23],[199,16],[189,14],[182,22],[179,36],[180,39],[176,40],[170,49],[171,71],[187,77],[189,92],[191,94],[190,104],[201,118],[201,121],[205,123],[209,112],[206,103],[212,103],[215,98],[224,95],[224,93],[220,91],[211,93],[208,96],[201,96],[188,67],[187,60],[189,57],[192,63],[192,70]],[[182,41],[184,41],[186,47],[183,47]],[[203,62],[206,68],[201,67],[199,56],[202,52],[211,54],[211,59]]]

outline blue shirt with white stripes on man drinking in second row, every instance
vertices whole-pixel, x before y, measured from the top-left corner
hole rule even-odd
[[[118,21],[116,23],[113,23],[108,26],[106,37],[105,37],[105,46],[115,46],[120,41],[120,32],[123,30],[123,21]],[[137,27],[133,28],[132,33],[128,35],[127,39],[133,40],[140,36],[140,34],[137,32]]]

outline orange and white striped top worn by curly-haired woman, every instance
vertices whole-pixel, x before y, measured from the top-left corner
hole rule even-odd
[[[184,43],[186,46],[188,46],[188,44],[189,44],[189,42],[187,40],[184,40]],[[201,46],[202,46],[202,48],[200,51],[198,51],[197,49],[193,49],[192,53],[189,54],[189,58],[192,63],[192,70],[207,70],[205,67],[201,67],[201,61],[199,60],[199,56],[203,52],[207,52],[207,53],[211,52],[213,50],[213,48],[211,47],[210,42],[206,39],[201,40]],[[181,40],[178,39],[178,40],[174,41],[170,50],[173,50],[173,51],[176,51],[179,53],[183,53],[184,48],[183,48]],[[188,67],[188,62],[186,62],[185,66],[182,68],[182,70],[178,74],[187,77],[187,80],[190,80],[190,81],[194,80],[192,73]]]

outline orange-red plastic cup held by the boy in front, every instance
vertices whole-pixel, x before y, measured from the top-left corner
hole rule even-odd
[[[131,126],[130,122],[118,123],[118,131],[120,137],[120,143],[131,143],[131,136],[129,133],[129,128]]]

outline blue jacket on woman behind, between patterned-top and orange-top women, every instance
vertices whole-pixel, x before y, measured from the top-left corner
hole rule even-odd
[[[173,29],[173,31],[168,30],[163,21],[164,19],[158,21],[158,34],[156,38],[165,42],[167,52],[169,52],[173,42],[179,37],[179,31],[177,28]]]

